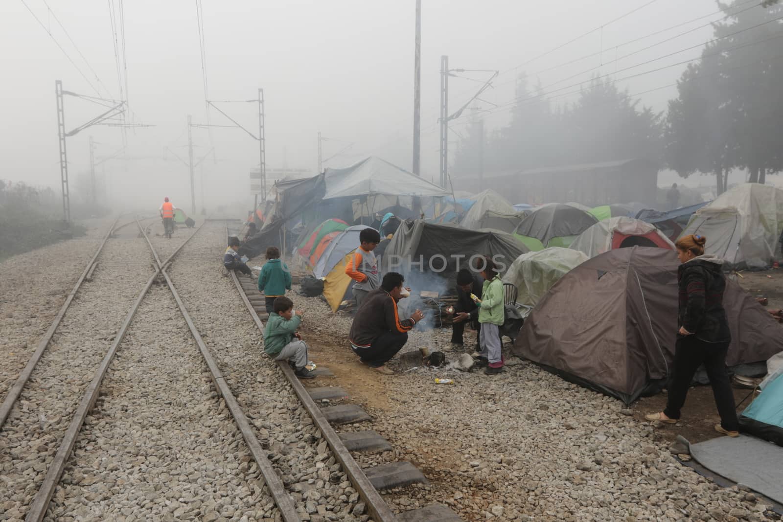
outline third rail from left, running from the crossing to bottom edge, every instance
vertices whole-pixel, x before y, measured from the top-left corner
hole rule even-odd
[[[204,220],[204,223],[200,225],[199,229],[204,226],[206,222],[207,221]],[[198,232],[198,229],[196,232]],[[193,232],[193,236],[196,235],[196,232]],[[146,234],[144,237],[146,238]],[[269,488],[269,494],[272,495],[272,500],[275,502],[277,509],[280,509],[280,516],[283,517],[284,522],[301,522],[301,517],[299,517],[296,507],[294,506],[294,500],[291,499],[290,495],[288,495],[285,486],[283,486],[283,481],[281,481],[280,477],[277,476],[275,469],[272,467],[272,463],[269,461],[269,453],[265,452],[261,443],[258,441],[258,438],[255,436],[255,432],[251,427],[250,421],[247,420],[247,416],[245,416],[244,412],[242,411],[239,402],[236,401],[229,384],[226,382],[226,377],[223,376],[222,372],[218,368],[217,362],[215,362],[215,358],[212,356],[207,345],[204,344],[204,340],[202,339],[201,334],[196,328],[196,325],[193,323],[193,319],[190,318],[190,314],[185,308],[185,304],[179,297],[179,292],[177,292],[174,283],[172,283],[171,278],[166,272],[166,265],[168,265],[168,263],[171,261],[171,257],[173,256],[169,257],[167,261],[161,264],[161,261],[158,260],[157,253],[155,252],[155,249],[152,246],[149,238],[147,238],[147,244],[150,246],[150,250],[152,250],[153,256],[158,263],[158,267],[161,269],[161,273],[166,279],[168,290],[171,290],[171,294],[174,296],[175,301],[177,301],[179,311],[182,312],[182,317],[185,318],[185,322],[188,324],[190,333],[193,334],[193,339],[196,340],[199,351],[204,357],[204,361],[207,363],[207,368],[209,368],[209,371],[212,374],[212,381],[215,383],[215,388],[218,390],[218,393],[222,396],[223,400],[226,401],[226,408],[228,408],[229,412],[231,412],[231,416],[233,416],[234,421],[236,422],[236,426],[239,427],[240,432],[242,433],[242,437],[247,443],[247,447],[250,448],[251,455],[253,455],[255,463],[258,465],[258,470],[261,471],[264,477],[264,481],[266,482],[266,486]],[[182,246],[184,247],[184,244]]]

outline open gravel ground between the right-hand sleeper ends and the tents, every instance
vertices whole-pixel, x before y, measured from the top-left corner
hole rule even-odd
[[[357,461],[410,460],[431,482],[388,491],[395,511],[442,502],[464,520],[773,520],[755,495],[680,464],[621,401],[508,355],[500,376],[402,371],[396,359],[389,365],[399,373],[380,376],[350,352],[348,315],[332,314],[318,297],[292,298],[305,310],[305,338],[318,339],[314,360],[341,362],[336,383],[373,416],[340,430],[371,428],[394,448],[355,454]],[[449,329],[414,330],[402,353],[428,347],[453,362],[461,351],[449,338]]]

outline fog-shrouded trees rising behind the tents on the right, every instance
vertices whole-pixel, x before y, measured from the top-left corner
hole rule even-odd
[[[744,5],[743,5],[744,4]],[[701,57],[656,113],[608,77],[593,77],[574,103],[557,105],[524,74],[508,124],[485,136],[478,113],[456,149],[454,175],[646,158],[682,177],[728,173],[749,181],[783,171],[783,3],[718,2],[723,20]]]

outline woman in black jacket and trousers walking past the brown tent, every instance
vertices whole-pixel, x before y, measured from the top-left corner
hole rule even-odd
[[[705,255],[704,243],[704,237],[693,235],[677,241],[677,257],[682,265],[677,271],[680,288],[677,322],[680,329],[674,348],[673,376],[666,409],[645,418],[676,423],[693,376],[704,364],[720,414],[720,424],[715,425],[715,430],[729,437],[738,437],[737,410],[726,369],[726,353],[731,343],[731,332],[723,309],[726,277],[723,275],[723,260],[711,254]]]

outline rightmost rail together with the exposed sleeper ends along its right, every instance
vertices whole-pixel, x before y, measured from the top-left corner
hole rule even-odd
[[[226,227],[226,236],[228,228]],[[250,279],[240,279],[236,272],[230,272],[236,290],[244,302],[247,311],[258,328],[263,332],[266,319],[264,296],[259,293],[254,282]],[[347,432],[338,434],[334,425],[344,423],[366,422],[371,417],[358,405],[341,403],[337,405],[319,408],[316,401],[335,400],[342,401],[348,394],[341,387],[318,386],[305,387],[295,376],[293,369],[287,362],[277,362],[280,373],[290,385],[294,394],[312,419],[312,423],[318,428],[323,439],[334,455],[334,459],[347,475],[353,488],[366,506],[366,512],[377,522],[459,522],[460,517],[451,509],[442,504],[431,504],[421,509],[413,509],[406,513],[395,515],[384,502],[380,491],[399,488],[409,484],[427,483],[427,479],[413,464],[408,462],[387,463],[363,469],[356,463],[352,452],[368,452],[390,449],[391,445],[383,437],[372,430]],[[321,378],[334,377],[327,368],[319,367],[316,370]],[[332,384],[332,383],[330,383]],[[350,450],[348,447],[350,446]]]

